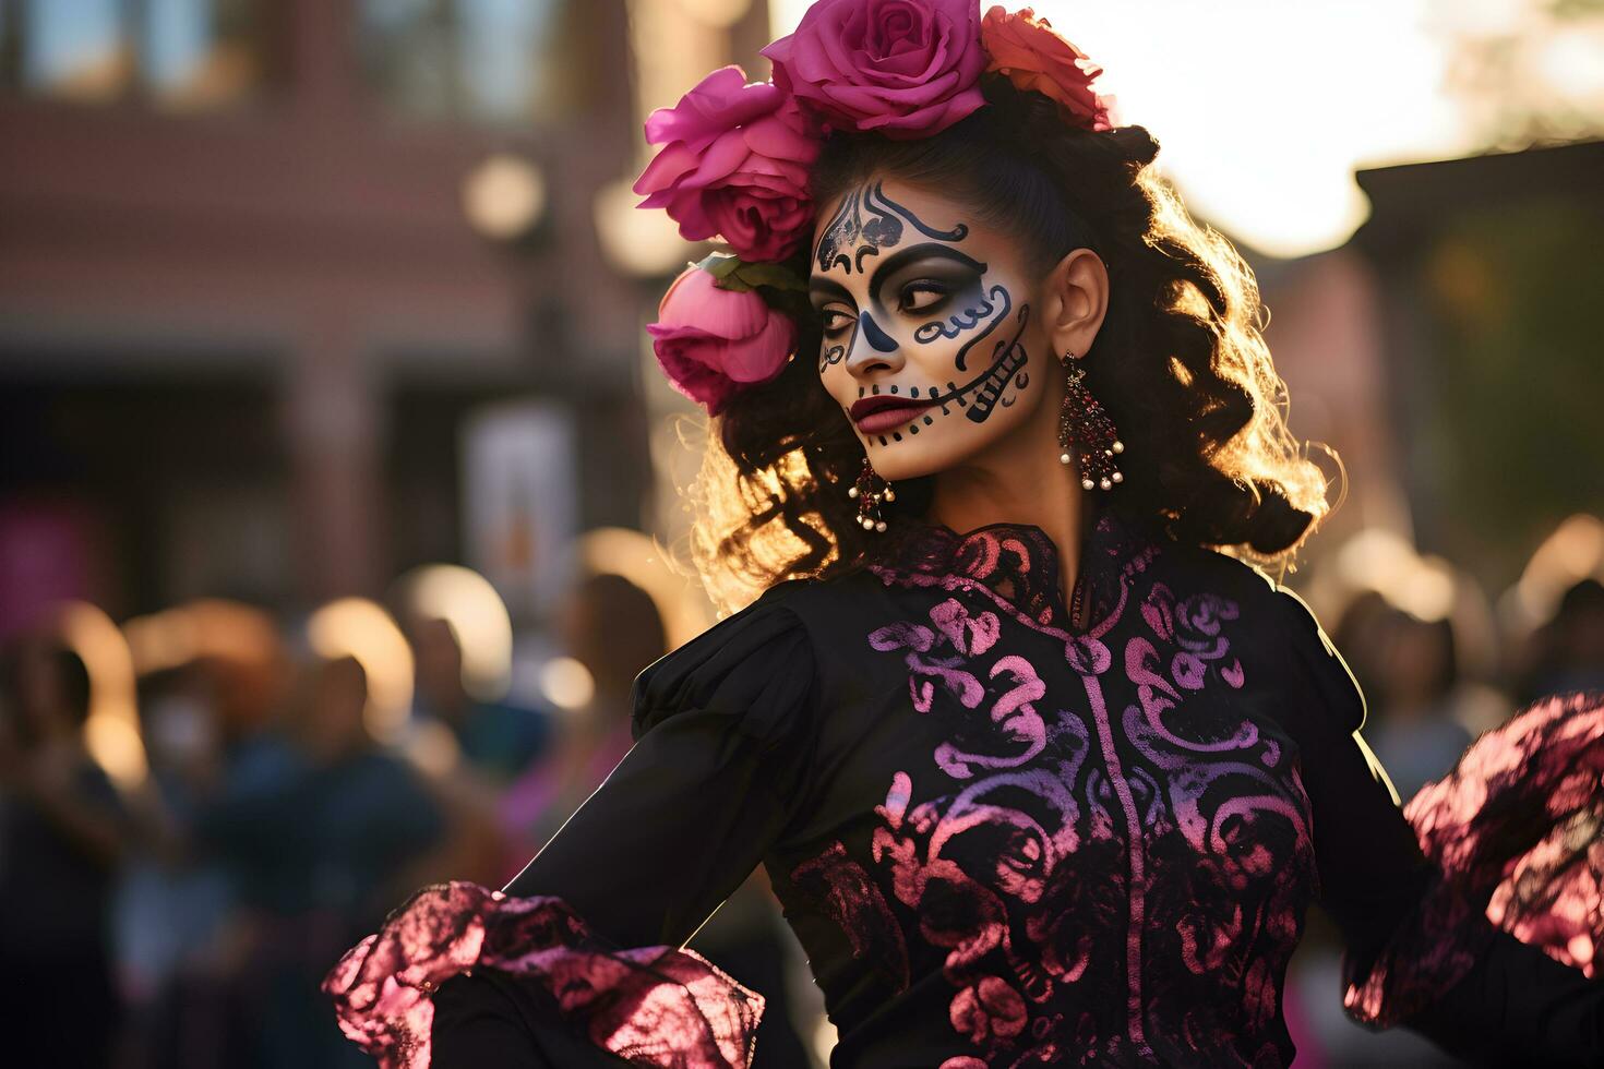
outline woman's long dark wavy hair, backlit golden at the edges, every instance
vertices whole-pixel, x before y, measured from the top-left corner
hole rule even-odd
[[[1083,357],[1086,385],[1126,442],[1110,503],[1177,542],[1290,564],[1331,505],[1309,444],[1286,428],[1253,271],[1150,167],[1158,141],[1145,128],[1068,127],[1052,101],[1001,75],[985,75],[982,91],[986,107],[930,138],[831,135],[813,168],[815,204],[892,175],[961,202],[1041,272],[1091,247],[1108,268],[1110,300]],[[804,276],[807,261],[799,252]],[[885,545],[855,521],[847,487],[863,447],[820,383],[818,345],[810,317],[780,377],[709,425],[690,545],[722,607],[783,579],[861,567]],[[897,482],[892,529],[898,514],[924,511],[934,478]]]

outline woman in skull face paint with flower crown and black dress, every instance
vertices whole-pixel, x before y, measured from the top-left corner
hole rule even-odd
[[[709,588],[762,596],[638,676],[635,747],[502,893],[340,963],[346,1032],[744,1066],[760,998],[678,947],[764,864],[834,1066],[1288,1064],[1310,901],[1354,1016],[1604,1063],[1604,986],[1487,920],[1464,792],[1428,857],[1307,606],[1219,551],[1285,561],[1325,482],[1248,269],[1097,69],[972,0],[823,0],[765,54],[653,115],[637,184],[736,253],[651,332],[715,417]],[[1543,716],[1598,761],[1596,710]]]

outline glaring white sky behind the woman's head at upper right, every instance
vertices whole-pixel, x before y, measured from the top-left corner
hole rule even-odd
[[[775,34],[805,8],[773,0]],[[1158,163],[1193,213],[1262,252],[1347,240],[1368,212],[1359,167],[1477,147],[1442,88],[1432,0],[1036,0],[1035,10],[1104,67],[1099,87],[1118,98],[1123,122],[1158,138]]]

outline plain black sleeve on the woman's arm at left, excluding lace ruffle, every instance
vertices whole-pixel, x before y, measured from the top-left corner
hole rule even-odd
[[[659,659],[635,680],[634,748],[504,893],[560,898],[626,955],[682,947],[807,795],[813,688],[807,633],[770,596]],[[576,1045],[585,1023],[566,1019],[541,984],[478,970],[438,997],[436,1069],[618,1063]]]

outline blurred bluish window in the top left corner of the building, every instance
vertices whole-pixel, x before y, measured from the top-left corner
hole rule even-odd
[[[255,0],[0,0],[0,83],[83,103],[204,111],[261,75]]]

